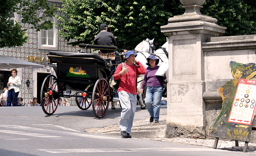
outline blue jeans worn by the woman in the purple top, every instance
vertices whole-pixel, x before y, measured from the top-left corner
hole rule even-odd
[[[147,109],[150,117],[154,117],[154,120],[159,120],[162,94],[163,94],[163,86],[147,87],[146,105],[147,105]]]

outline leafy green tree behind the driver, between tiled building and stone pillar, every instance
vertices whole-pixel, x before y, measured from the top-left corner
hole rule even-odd
[[[60,9],[66,17],[57,16],[59,35],[70,44],[92,43],[106,23],[117,40],[119,48],[134,48],[146,38],[163,43],[165,37],[160,26],[172,16],[169,0],[63,0]],[[165,11],[164,11],[165,10]]]

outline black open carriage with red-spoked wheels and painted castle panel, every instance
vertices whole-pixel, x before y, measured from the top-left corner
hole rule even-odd
[[[114,92],[109,86],[111,67],[122,62],[122,56],[106,53],[101,56],[92,49],[116,51],[115,46],[80,44],[84,51],[78,53],[50,51],[48,61],[55,75],[48,75],[41,88],[41,103],[44,113],[52,115],[60,97],[75,97],[77,106],[86,110],[92,105],[94,115],[104,117]],[[112,62],[110,62],[112,58]],[[113,59],[114,58],[114,59]]]

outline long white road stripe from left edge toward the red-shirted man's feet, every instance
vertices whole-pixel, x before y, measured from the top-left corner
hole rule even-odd
[[[49,129],[38,129],[38,128],[34,128],[34,127],[26,127],[26,126],[18,126],[18,125],[0,125],[0,127],[6,127],[6,128],[12,128],[12,129],[22,129],[22,130],[36,131],[36,132],[55,132],[57,134],[62,134],[62,135],[73,135],[73,136],[82,136],[82,137],[98,138],[98,139],[122,139],[121,137],[120,138],[114,138],[114,137],[111,137],[111,136],[90,135],[90,134],[86,134],[86,133],[72,133],[72,132],[54,131],[54,130],[49,130]],[[4,133],[3,131],[0,130],[0,133]],[[16,131],[10,131],[9,133],[11,133],[11,132],[16,132]],[[17,132],[19,132],[19,131],[17,131]],[[7,131],[6,131],[6,133],[7,133]],[[20,134],[20,133],[17,133],[17,134],[18,135],[24,135],[25,132],[22,133],[22,134]],[[36,136],[36,133],[28,133],[28,134],[33,134],[34,136]],[[38,137],[40,135],[42,135],[42,134],[38,134]],[[49,136],[49,135],[45,135],[45,136]],[[57,137],[57,136],[53,136],[53,137]],[[58,137],[62,137],[62,136],[58,136]]]

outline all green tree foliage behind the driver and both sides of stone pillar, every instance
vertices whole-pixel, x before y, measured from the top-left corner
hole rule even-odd
[[[60,9],[66,17],[58,16],[59,35],[71,45],[92,43],[99,25],[106,23],[116,36],[118,48],[132,49],[146,38],[163,44],[165,36],[160,26],[172,15],[185,11],[179,0],[62,0]],[[206,0],[202,14],[218,20],[227,27],[224,35],[256,33],[255,0]],[[69,18],[70,17],[70,18]]]

